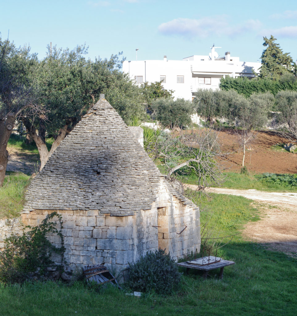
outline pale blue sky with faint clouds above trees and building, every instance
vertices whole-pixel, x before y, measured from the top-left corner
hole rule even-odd
[[[40,59],[46,46],[89,46],[88,57],[127,60],[182,59],[208,55],[210,47],[241,61],[261,59],[263,36],[272,34],[283,52],[297,58],[297,4],[294,1],[52,0],[1,3],[2,39],[29,44]]]

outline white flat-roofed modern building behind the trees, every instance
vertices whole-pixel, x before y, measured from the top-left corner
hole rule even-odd
[[[254,77],[261,63],[242,62],[239,57],[232,57],[226,52],[219,57],[215,48],[211,47],[208,56],[194,55],[183,60],[142,60],[124,61],[123,71],[129,74],[131,80],[143,82],[163,81],[167,90],[174,90],[174,98],[193,100],[199,88],[218,89],[220,79],[226,76]]]

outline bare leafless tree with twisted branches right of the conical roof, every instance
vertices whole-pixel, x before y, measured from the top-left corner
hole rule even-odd
[[[179,186],[181,177],[195,179],[198,191],[223,181],[221,165],[218,161],[223,154],[218,141],[219,132],[213,128],[191,131],[162,132],[147,146],[149,155],[161,161],[163,172]]]

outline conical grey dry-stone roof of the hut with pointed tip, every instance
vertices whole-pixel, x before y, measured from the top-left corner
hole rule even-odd
[[[98,210],[115,216],[132,215],[151,209],[161,179],[164,176],[119,114],[102,98],[32,180],[24,210]],[[185,204],[191,204],[170,185],[168,188]]]

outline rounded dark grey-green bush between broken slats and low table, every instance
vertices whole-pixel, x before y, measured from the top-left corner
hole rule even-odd
[[[170,254],[162,249],[147,252],[135,264],[130,264],[129,286],[140,292],[169,294],[177,286],[181,274]]]

